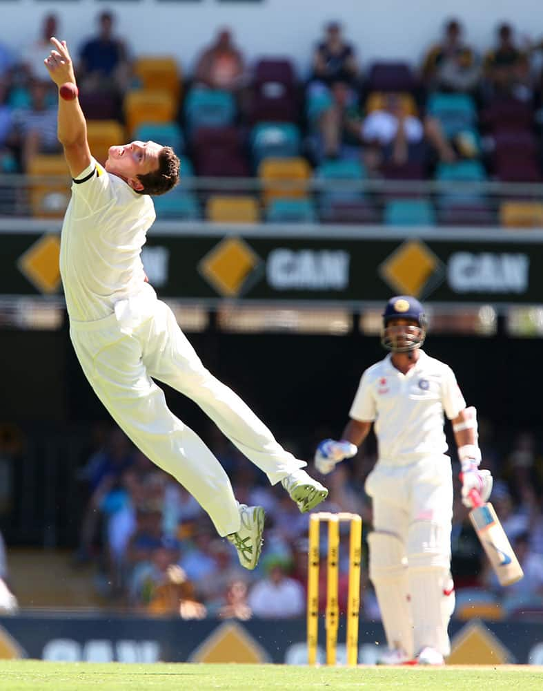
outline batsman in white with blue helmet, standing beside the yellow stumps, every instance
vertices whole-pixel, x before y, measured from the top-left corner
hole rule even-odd
[[[453,370],[420,350],[426,337],[422,305],[397,296],[383,318],[381,342],[391,353],[364,372],[342,440],[321,442],[315,466],[329,473],[355,455],[375,424],[378,459],[365,489],[373,502],[369,572],[389,648],[381,661],[442,665],[455,603],[444,414],[453,424],[466,507],[472,507],[472,489],[488,499],[492,476],[479,470],[475,408],[466,408]]]

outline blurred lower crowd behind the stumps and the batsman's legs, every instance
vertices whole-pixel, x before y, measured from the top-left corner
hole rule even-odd
[[[543,596],[543,456],[533,435],[522,433],[498,451],[484,420],[484,466],[495,477],[491,500],[515,547],[525,576],[502,588],[468,520],[460,482],[453,510],[453,576],[457,616],[505,618],[541,609]],[[135,450],[120,430],[101,437],[81,473],[88,505],[81,527],[76,565],[97,565],[96,587],[106,605],[182,618],[288,618],[306,610],[308,516],[299,513],[282,486],[266,477],[218,432],[210,448],[233,480],[240,502],[266,509],[266,534],[259,566],[242,569],[235,550],[217,536],[197,502],[169,475]],[[308,448],[307,455],[310,455]],[[458,468],[452,453],[455,475]],[[326,476],[330,495],[324,511],[362,515],[364,562],[362,616],[379,619],[367,577],[366,536],[371,502],[364,480],[375,463],[375,443],[366,442],[355,460]],[[348,526],[342,525],[339,605],[348,594]],[[326,605],[326,531],[321,536],[320,607]],[[483,608],[483,609],[481,609]]]

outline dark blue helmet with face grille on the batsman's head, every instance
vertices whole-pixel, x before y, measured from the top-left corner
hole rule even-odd
[[[426,338],[428,321],[424,307],[411,295],[396,295],[391,298],[383,312],[381,343],[393,352],[408,352],[420,348]],[[389,327],[391,319],[412,319],[418,326]]]

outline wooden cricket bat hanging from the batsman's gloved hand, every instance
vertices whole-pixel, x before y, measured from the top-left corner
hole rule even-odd
[[[517,583],[524,573],[494,507],[490,502],[482,502],[475,489],[471,490],[469,496],[475,507],[469,512],[469,518],[500,585]]]

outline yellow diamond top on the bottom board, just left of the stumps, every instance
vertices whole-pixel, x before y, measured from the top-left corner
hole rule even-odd
[[[215,629],[192,653],[189,661],[256,664],[269,662],[269,656],[243,627],[228,622]]]

